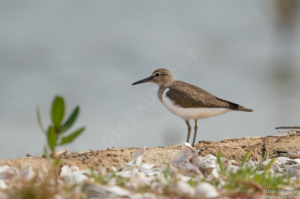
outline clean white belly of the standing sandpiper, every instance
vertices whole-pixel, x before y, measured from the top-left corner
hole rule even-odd
[[[198,120],[208,117],[215,117],[222,115],[229,111],[233,111],[227,108],[182,108],[174,103],[167,97],[166,93],[169,91],[167,88],[162,96],[163,105],[174,115],[181,117],[184,120]]]

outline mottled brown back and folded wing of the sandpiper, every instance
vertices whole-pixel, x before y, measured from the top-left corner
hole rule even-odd
[[[234,111],[253,111],[241,105],[220,99],[197,86],[182,81],[166,85],[167,97],[183,108],[229,108]]]

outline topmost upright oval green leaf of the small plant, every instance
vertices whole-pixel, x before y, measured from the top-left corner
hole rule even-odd
[[[56,129],[60,128],[60,123],[64,117],[64,99],[55,96],[52,104],[52,122]]]

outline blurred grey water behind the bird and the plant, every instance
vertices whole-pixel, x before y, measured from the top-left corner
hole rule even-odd
[[[198,120],[197,140],[300,125],[299,19],[299,1],[0,1],[0,158],[43,153],[55,94],[87,127],[70,151],[185,141],[157,86],[131,85],[157,68],[254,109]]]

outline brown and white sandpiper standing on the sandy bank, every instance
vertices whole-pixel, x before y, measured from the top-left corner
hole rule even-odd
[[[197,120],[222,115],[229,111],[252,112],[252,109],[215,97],[207,91],[186,82],[177,81],[170,71],[164,68],[155,70],[150,77],[134,82],[132,85],[153,82],[159,86],[158,99],[173,114],[181,117],[187,124],[187,143],[190,140],[189,120],[195,120],[195,146],[198,129]]]

